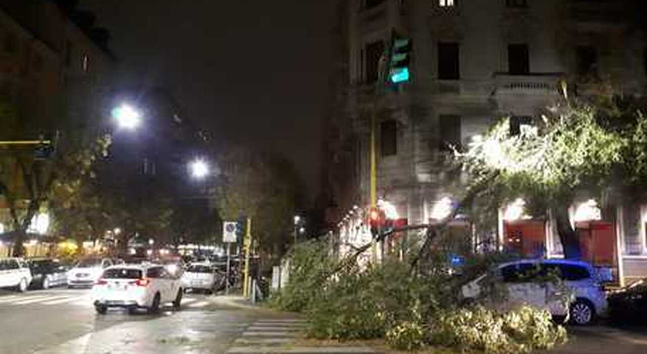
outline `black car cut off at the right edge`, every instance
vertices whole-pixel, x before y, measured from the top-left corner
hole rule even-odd
[[[609,317],[617,324],[647,324],[647,279],[609,295]]]

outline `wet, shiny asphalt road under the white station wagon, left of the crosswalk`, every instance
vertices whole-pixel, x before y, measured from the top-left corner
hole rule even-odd
[[[97,315],[87,289],[0,292],[0,353],[225,353],[259,318],[254,309],[186,294],[181,311]]]

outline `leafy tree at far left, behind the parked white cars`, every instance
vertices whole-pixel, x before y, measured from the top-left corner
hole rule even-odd
[[[30,120],[23,119],[9,100],[0,100],[0,131],[3,140],[25,140],[32,137]],[[23,243],[34,216],[50,203],[71,207],[82,198],[82,186],[96,177],[96,161],[107,156],[110,135],[87,135],[67,132],[60,135],[41,133],[36,140],[50,140],[36,148],[0,146],[0,194],[8,208],[14,229],[15,256],[22,256]]]

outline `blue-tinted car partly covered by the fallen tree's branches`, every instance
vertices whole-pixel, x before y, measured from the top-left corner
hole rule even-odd
[[[542,281],[549,272],[555,272],[573,293],[575,299],[564,302],[559,289]],[[584,261],[573,260],[519,260],[503,263],[488,274],[483,274],[461,289],[463,298],[477,298],[488,280],[498,279],[508,291],[508,303],[529,304],[548,309],[556,317],[569,317],[579,325],[591,324],[606,313],[608,302],[595,268]]]

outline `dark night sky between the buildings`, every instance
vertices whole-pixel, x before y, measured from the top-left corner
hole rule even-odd
[[[316,194],[331,1],[82,0],[111,31],[129,85],[166,87],[182,114],[294,160]],[[226,144],[223,144],[226,148]]]

